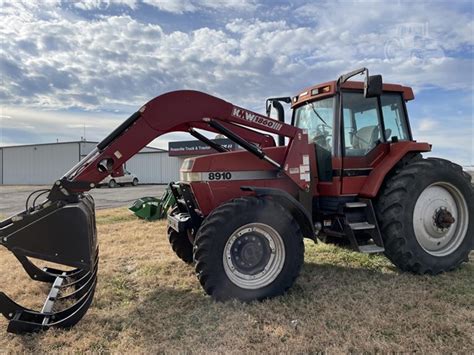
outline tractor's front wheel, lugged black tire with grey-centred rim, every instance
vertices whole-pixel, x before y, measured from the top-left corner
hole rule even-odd
[[[303,259],[298,223],[281,205],[255,197],[216,208],[194,243],[199,281],[207,294],[220,301],[283,294],[293,285]]]

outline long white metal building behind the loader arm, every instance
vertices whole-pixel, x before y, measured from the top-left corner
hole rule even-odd
[[[0,148],[0,184],[49,185],[87,155],[97,142],[61,142]],[[140,183],[165,184],[179,179],[184,157],[170,157],[166,150],[146,147],[131,158],[127,170]]]

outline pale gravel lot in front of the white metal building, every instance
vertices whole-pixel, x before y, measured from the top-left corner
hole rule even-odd
[[[25,186],[25,185],[5,185],[0,186],[0,216],[8,217],[16,212],[25,209],[25,202],[28,195],[39,189],[50,188],[51,186]],[[90,191],[95,199],[97,209],[129,206],[139,197],[161,196],[166,185],[139,185],[136,187],[118,187],[109,189],[102,187]],[[31,201],[30,201],[31,203]]]

